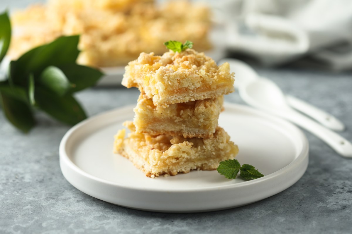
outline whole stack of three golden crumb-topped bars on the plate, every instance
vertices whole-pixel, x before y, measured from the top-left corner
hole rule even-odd
[[[233,92],[233,74],[193,49],[162,56],[141,53],[126,66],[122,85],[141,92],[133,122],[115,135],[120,153],[152,178],[214,170],[233,159],[238,147],[218,126],[224,94]]]

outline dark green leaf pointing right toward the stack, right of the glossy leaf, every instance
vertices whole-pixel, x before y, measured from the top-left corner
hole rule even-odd
[[[60,66],[59,68],[66,75],[67,79],[73,84],[70,88],[70,93],[94,86],[103,75],[103,73],[97,69],[74,63],[66,64]]]

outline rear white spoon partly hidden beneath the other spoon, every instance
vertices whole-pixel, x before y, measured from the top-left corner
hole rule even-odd
[[[230,63],[231,70],[235,72],[235,83],[234,86],[239,88],[241,84],[248,80],[253,79],[260,79],[256,71],[251,68],[246,63],[237,60],[237,59],[223,59],[219,62],[219,64],[228,62]],[[263,87],[264,88],[264,87]],[[277,87],[278,88],[278,87]],[[335,131],[343,131],[345,129],[345,125],[332,116],[331,114],[322,111],[307,102],[304,102],[298,98],[295,98],[290,95],[285,95],[284,97],[287,103],[297,109],[298,111],[303,112],[306,115],[309,115],[311,118],[315,119],[316,121],[320,122],[322,125],[331,128]]]

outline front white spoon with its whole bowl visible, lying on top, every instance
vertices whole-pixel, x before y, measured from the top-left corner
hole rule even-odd
[[[352,143],[288,106],[284,94],[271,80],[245,81],[239,87],[241,98],[249,105],[294,122],[325,141],[342,156],[352,158]]]

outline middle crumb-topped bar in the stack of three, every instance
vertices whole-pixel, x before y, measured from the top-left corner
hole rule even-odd
[[[133,123],[136,132],[150,135],[181,135],[185,138],[209,138],[218,125],[224,96],[214,99],[196,100],[170,104],[168,107],[154,106],[144,93],[138,98]]]

